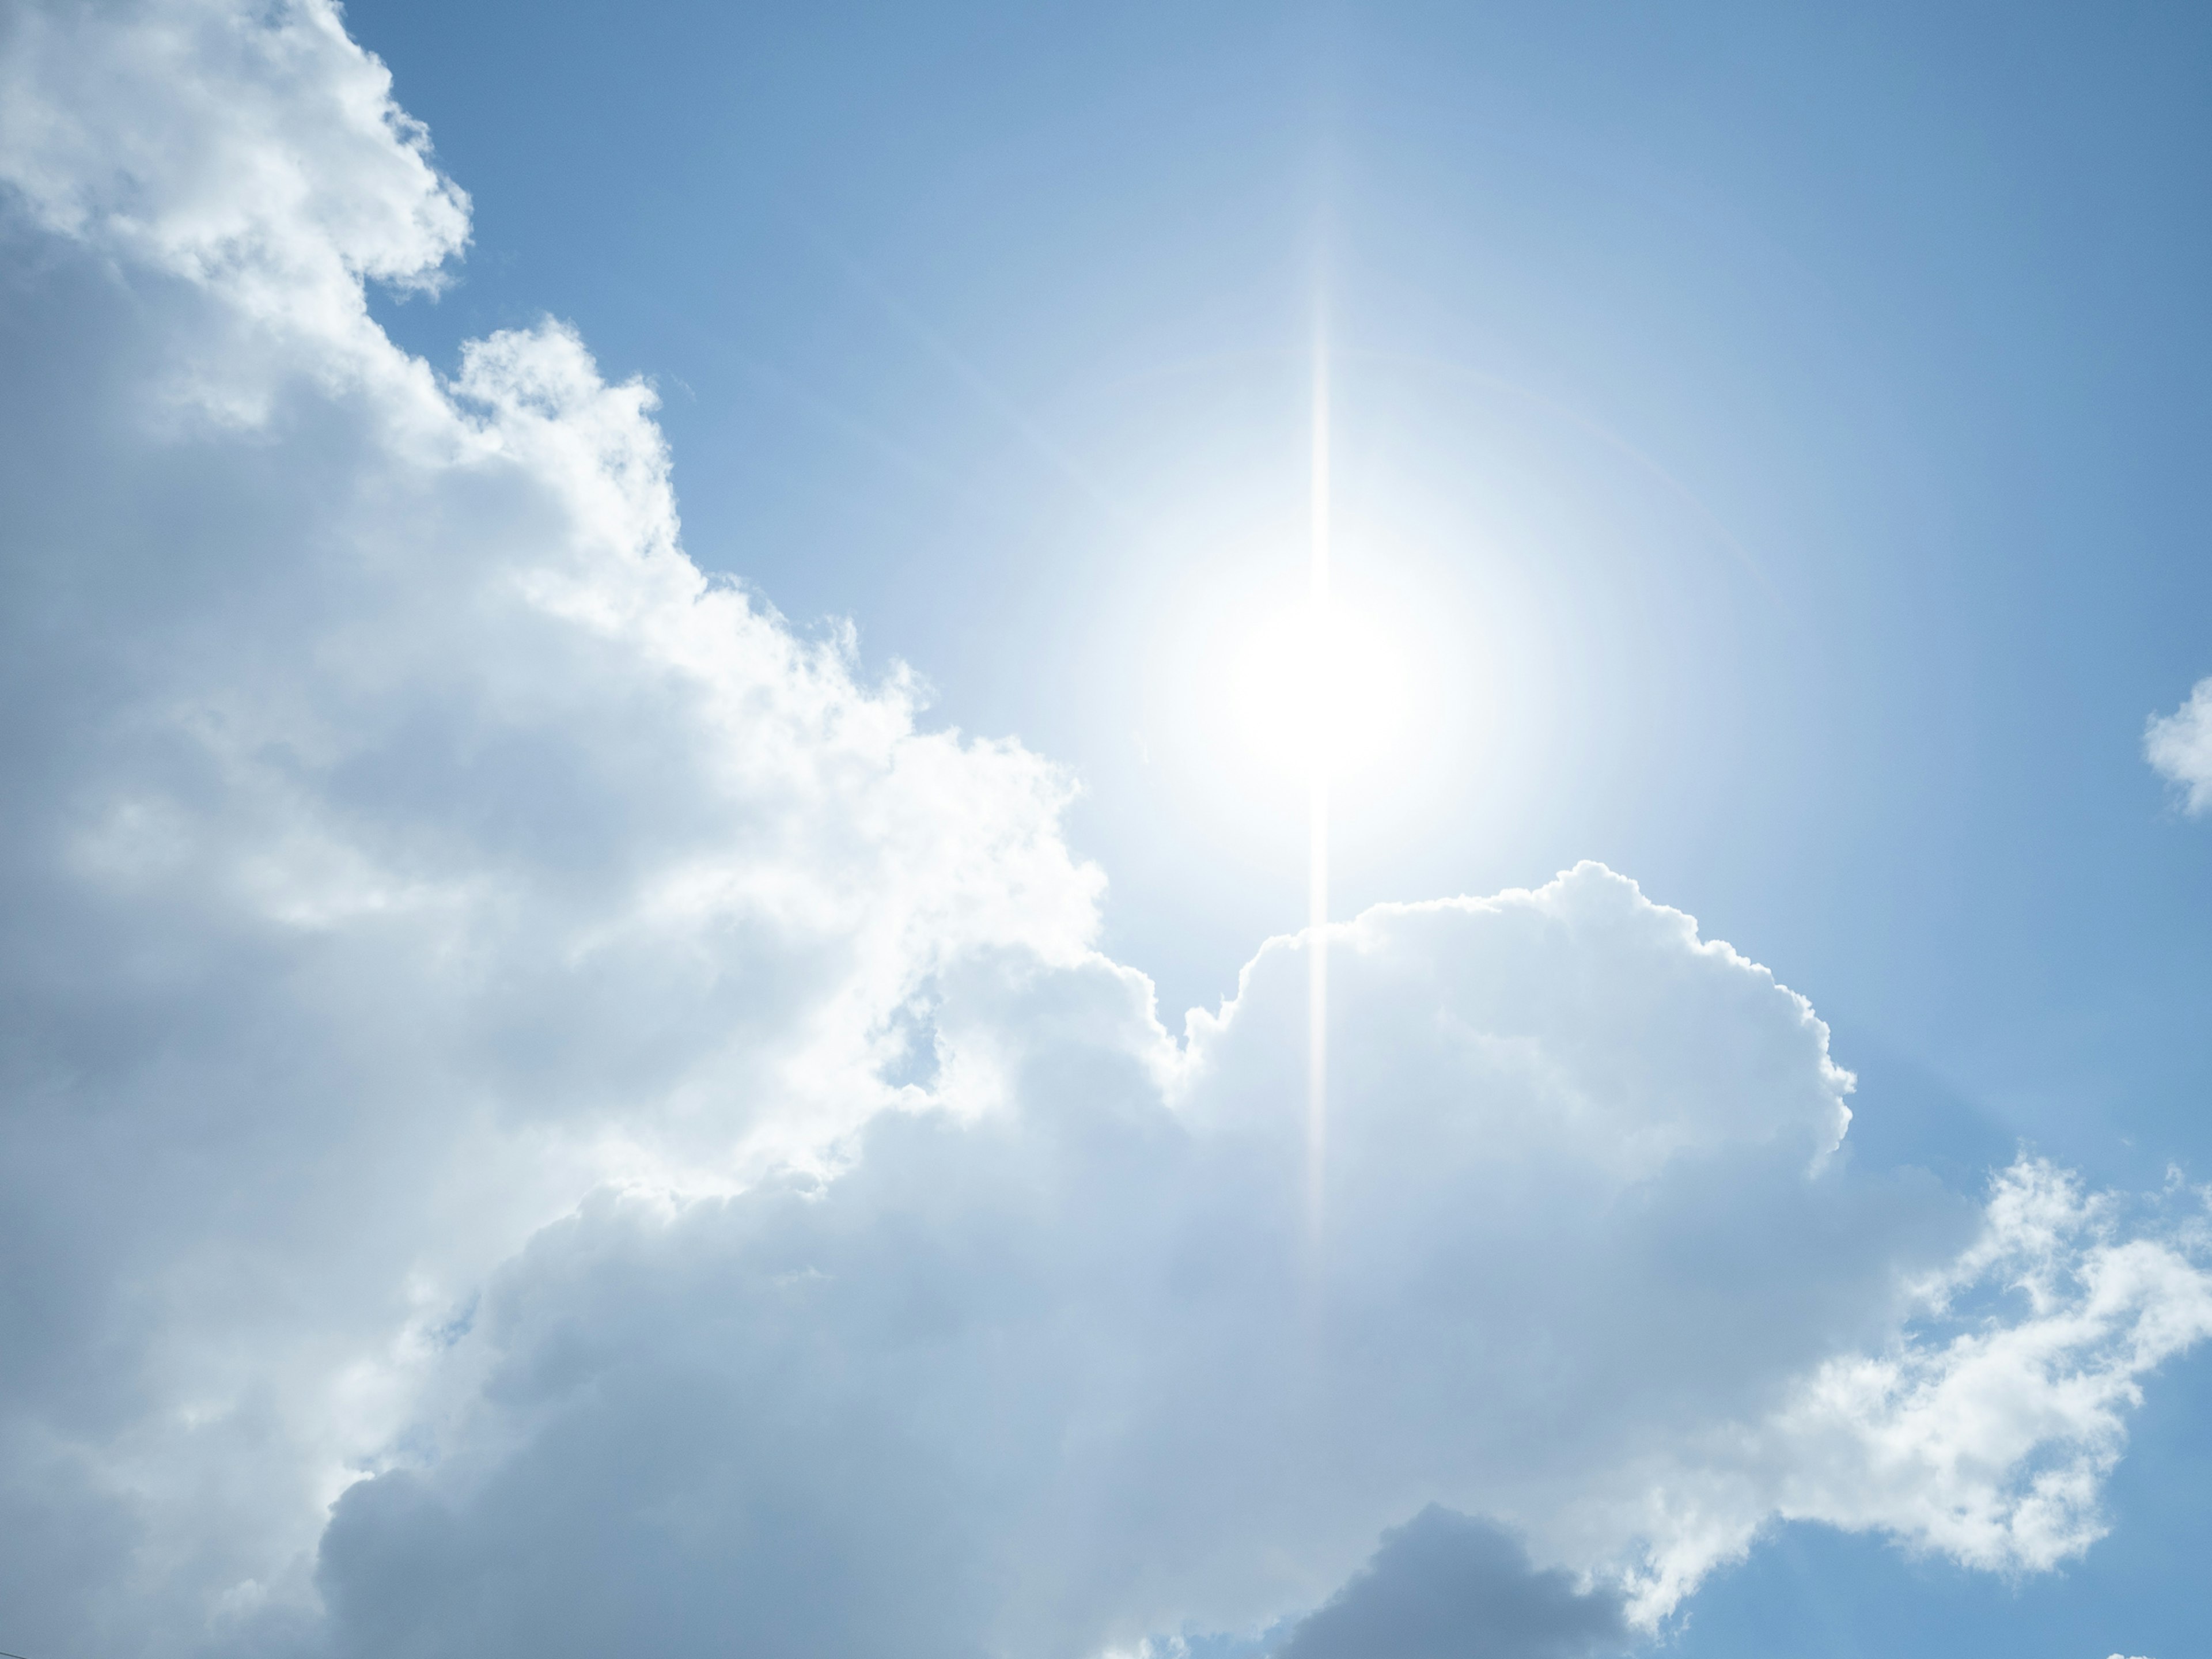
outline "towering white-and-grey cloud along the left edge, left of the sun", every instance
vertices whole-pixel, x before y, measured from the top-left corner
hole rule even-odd
[[[1051,765],[701,577],[646,387],[385,341],[460,197],[332,9],[13,9],[0,73],[0,1604],[133,1652],[305,1584],[535,1225],[834,1157],[1097,878]]]

